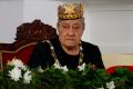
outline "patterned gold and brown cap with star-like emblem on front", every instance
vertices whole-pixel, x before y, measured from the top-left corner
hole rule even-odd
[[[58,8],[58,18],[63,20],[79,19],[83,17],[81,3],[64,3]]]

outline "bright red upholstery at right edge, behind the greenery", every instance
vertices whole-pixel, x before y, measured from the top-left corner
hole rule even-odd
[[[130,71],[133,71],[133,66],[113,66],[106,69],[108,73],[113,73],[115,71],[116,68],[127,68]]]

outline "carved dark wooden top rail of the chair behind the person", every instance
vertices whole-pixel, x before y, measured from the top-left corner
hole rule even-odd
[[[41,20],[35,19],[32,22],[22,23],[17,28],[16,41],[13,43],[0,43],[0,50],[16,50],[24,44],[50,40],[57,38],[55,28],[44,24]]]

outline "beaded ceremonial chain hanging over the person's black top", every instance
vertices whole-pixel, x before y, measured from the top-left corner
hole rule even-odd
[[[55,51],[54,51],[54,48],[53,48],[52,43],[51,43],[49,40],[45,40],[45,41],[50,44],[50,49],[51,49],[51,52],[52,52],[51,55],[52,55],[52,57],[53,57],[55,63],[58,63],[58,65],[61,66],[61,63],[59,62],[59,60],[58,60],[58,58],[57,58],[57,55],[55,55]],[[82,62],[83,62],[83,49],[82,49],[82,43],[80,42],[79,66],[81,66]]]

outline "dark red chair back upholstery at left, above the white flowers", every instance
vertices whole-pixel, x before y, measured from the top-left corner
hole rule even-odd
[[[8,62],[8,60],[12,60],[16,57],[18,59],[21,59],[22,62],[24,65],[27,65],[27,62],[33,51],[34,46],[35,44],[27,44],[27,46],[23,46],[23,47],[17,49],[16,51],[2,51],[3,63],[6,65]]]

